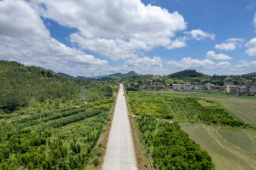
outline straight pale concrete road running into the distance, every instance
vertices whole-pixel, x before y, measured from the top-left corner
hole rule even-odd
[[[120,84],[103,170],[138,169],[123,85]]]

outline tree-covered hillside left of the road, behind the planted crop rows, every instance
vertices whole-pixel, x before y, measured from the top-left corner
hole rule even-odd
[[[15,61],[0,61],[0,68],[0,113],[24,112],[24,108],[32,113],[79,105],[77,86],[87,86],[89,102],[108,99],[118,90],[118,83],[101,86],[97,82],[72,80],[52,70]]]

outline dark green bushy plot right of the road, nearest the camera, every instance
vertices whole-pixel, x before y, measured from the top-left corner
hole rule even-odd
[[[169,123],[143,116],[136,119],[156,169],[214,168],[207,151],[191,140],[178,122]]]

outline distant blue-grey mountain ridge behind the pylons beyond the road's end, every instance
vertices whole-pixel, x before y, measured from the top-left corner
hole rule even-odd
[[[68,78],[72,78],[72,79],[78,79],[78,80],[92,80],[93,78],[92,77],[83,77],[83,76],[77,76],[77,77],[74,77],[74,76],[70,76],[68,74],[65,74],[65,73],[56,73],[58,75],[61,75],[63,77],[68,77]],[[115,74],[110,74],[108,76],[101,76],[101,80],[102,81],[106,81],[106,80],[120,80],[122,78],[125,78],[125,77],[130,77],[130,76],[134,76],[134,75],[139,75],[137,73],[135,73],[134,71],[130,71],[128,73],[125,73],[125,74],[122,74],[122,73],[115,73]],[[100,80],[100,76],[95,76],[94,77],[95,80]]]

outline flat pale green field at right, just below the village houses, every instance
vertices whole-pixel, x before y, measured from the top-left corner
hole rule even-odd
[[[240,117],[247,124],[256,126],[256,96],[239,96],[239,95],[224,95],[224,94],[209,94],[199,91],[150,91],[152,93],[171,93],[183,96],[191,96],[215,100],[222,103],[233,114]]]

